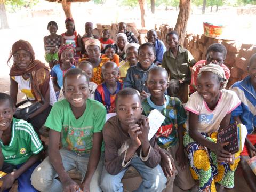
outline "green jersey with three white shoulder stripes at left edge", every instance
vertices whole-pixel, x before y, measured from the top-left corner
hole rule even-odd
[[[9,145],[0,140],[4,161],[12,165],[25,163],[33,154],[43,150],[43,145],[33,126],[21,119],[12,118],[12,137]]]

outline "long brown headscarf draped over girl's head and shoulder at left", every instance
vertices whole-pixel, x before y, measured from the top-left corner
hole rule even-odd
[[[20,69],[19,66],[15,65],[15,61],[11,66],[10,76],[21,76],[30,73],[30,77],[33,81],[31,82],[31,92],[37,101],[42,101],[41,95],[37,90],[40,90],[42,95],[49,89],[50,74],[48,68],[39,60],[35,60],[35,52],[31,44],[24,40],[19,40],[12,45],[10,56],[7,63],[10,62],[12,56],[19,50],[28,51],[31,54],[31,63],[26,69]],[[33,83],[32,83],[33,82]],[[35,89],[36,88],[36,89]]]

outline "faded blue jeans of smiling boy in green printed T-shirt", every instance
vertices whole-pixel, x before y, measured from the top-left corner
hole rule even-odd
[[[82,173],[82,177],[85,177],[87,165],[89,163],[89,155],[77,155],[73,151],[66,149],[60,149],[60,155],[62,163],[66,172],[77,168]],[[103,155],[102,155],[103,156]],[[100,177],[103,167],[103,157],[101,156],[97,169],[95,170],[91,183],[90,191],[101,191],[100,189]],[[34,170],[31,176],[32,185],[39,191],[58,192],[63,191],[61,182],[56,179],[58,176],[53,166],[49,161],[49,157],[46,157],[44,161],[39,164]]]

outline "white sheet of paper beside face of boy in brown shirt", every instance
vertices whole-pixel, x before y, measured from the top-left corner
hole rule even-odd
[[[162,123],[164,122],[165,116],[162,115],[158,110],[154,109],[148,115],[148,123],[149,123],[149,133],[148,133],[148,140],[153,138],[156,134],[159,127],[161,127]]]

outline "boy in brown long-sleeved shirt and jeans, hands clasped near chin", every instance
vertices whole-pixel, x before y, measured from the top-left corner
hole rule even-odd
[[[116,113],[103,128],[105,166],[101,176],[101,189],[123,191],[121,179],[129,166],[133,166],[143,181],[137,191],[162,191],[166,178],[159,166],[160,154],[156,135],[148,140],[149,124],[142,116],[138,91],[126,88],[116,96]]]

